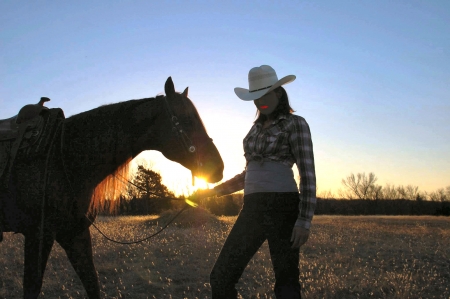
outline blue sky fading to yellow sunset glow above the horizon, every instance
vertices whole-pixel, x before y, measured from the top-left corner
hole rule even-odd
[[[351,173],[450,185],[450,1],[1,1],[0,118],[41,96],[66,116],[189,86],[225,163],[245,166],[255,106],[236,97],[268,64],[309,123],[319,191]],[[177,193],[190,172],[135,162]],[[212,186],[212,185],[211,185]]]

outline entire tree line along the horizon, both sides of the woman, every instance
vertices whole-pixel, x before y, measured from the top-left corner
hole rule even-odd
[[[350,174],[342,179],[343,189],[338,195],[331,191],[317,192],[316,214],[339,215],[450,215],[450,186],[434,192],[420,191],[417,186],[377,184],[378,178],[369,174]],[[195,193],[191,197],[195,197]],[[243,194],[214,198],[194,198],[200,206],[215,215],[235,216],[243,204]],[[179,209],[184,196],[176,197],[164,184],[161,175],[138,165],[137,172],[128,181],[119,203],[111,209],[105,201],[102,214],[151,215]]]

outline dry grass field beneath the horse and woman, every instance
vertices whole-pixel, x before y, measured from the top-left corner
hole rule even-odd
[[[118,245],[91,228],[105,298],[210,298],[209,271],[236,217],[185,212],[184,220],[141,245]],[[167,215],[166,215],[167,216]],[[190,217],[190,218],[189,218]],[[160,222],[168,219],[161,217]],[[194,224],[186,219],[197,219]],[[97,219],[120,240],[144,237],[155,217]],[[164,224],[164,223],[159,223]],[[21,298],[23,237],[0,243],[0,298]],[[303,298],[450,298],[450,218],[316,216],[301,249]],[[238,284],[242,298],[274,298],[267,243]],[[55,243],[42,298],[85,298]]]

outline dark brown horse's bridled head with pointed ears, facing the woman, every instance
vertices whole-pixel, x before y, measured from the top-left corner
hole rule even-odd
[[[188,168],[196,177],[209,183],[220,181],[224,168],[222,158],[206,133],[197,109],[188,98],[188,88],[181,94],[175,92],[172,78],[169,77],[164,89],[166,96],[155,100],[159,113],[154,116],[152,128],[145,134],[146,138],[151,139],[148,142],[152,144],[152,149]],[[138,114],[142,115],[142,111]],[[140,140],[146,142],[142,136]]]

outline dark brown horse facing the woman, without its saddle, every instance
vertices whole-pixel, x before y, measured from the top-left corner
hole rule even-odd
[[[118,194],[118,172],[124,175],[128,162],[142,151],[160,151],[208,182],[222,179],[222,159],[187,88],[176,93],[169,77],[165,93],[71,116],[60,126],[50,159],[17,158],[8,189],[0,187],[0,212],[5,231],[25,236],[24,298],[39,296],[55,240],[89,298],[100,298],[88,218],[95,219],[102,198]]]

